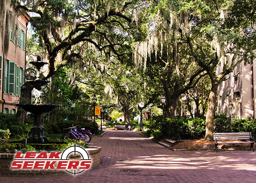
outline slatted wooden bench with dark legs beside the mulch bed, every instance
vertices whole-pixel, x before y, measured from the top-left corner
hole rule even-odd
[[[254,151],[254,139],[251,132],[241,132],[241,133],[215,133],[213,134],[215,140],[215,149],[217,152],[218,144],[242,144],[250,143],[251,149]],[[222,140],[231,140],[233,142],[221,142]],[[243,140],[243,141],[238,141]],[[251,150],[250,149],[250,150]]]

